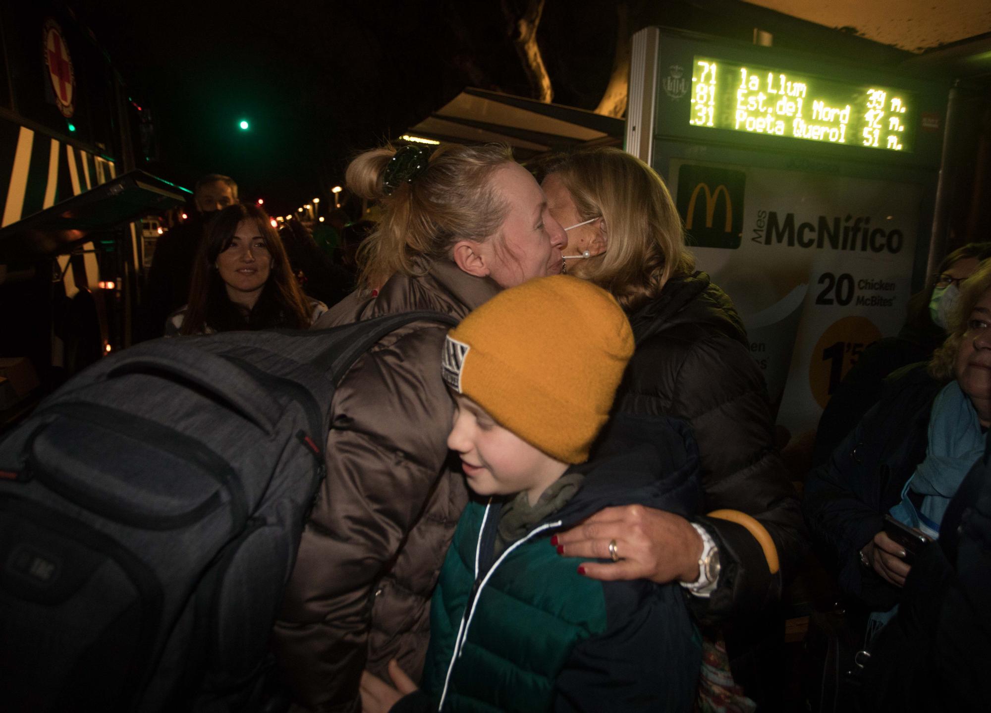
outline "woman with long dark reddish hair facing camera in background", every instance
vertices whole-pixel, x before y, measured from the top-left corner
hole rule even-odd
[[[306,329],[326,311],[299,288],[271,218],[258,206],[239,203],[220,211],[207,228],[189,302],[169,316],[165,336]]]

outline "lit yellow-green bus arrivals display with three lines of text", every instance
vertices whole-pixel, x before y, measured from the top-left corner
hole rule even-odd
[[[820,144],[911,152],[911,92],[695,57],[689,124]]]

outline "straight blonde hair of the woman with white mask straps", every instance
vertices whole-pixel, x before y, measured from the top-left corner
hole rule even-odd
[[[636,156],[583,149],[541,165],[571,193],[581,220],[606,221],[606,252],[569,272],[608,290],[629,312],[656,297],[673,275],[691,272],[681,218],[664,181]]]

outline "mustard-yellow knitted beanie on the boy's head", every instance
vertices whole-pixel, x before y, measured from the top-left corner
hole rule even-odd
[[[552,458],[589,458],[633,354],[612,295],[567,275],[495,295],[448,334],[444,380]]]

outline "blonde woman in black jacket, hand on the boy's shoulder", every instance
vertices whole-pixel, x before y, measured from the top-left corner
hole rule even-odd
[[[637,506],[607,508],[558,537],[588,576],[679,581],[696,616],[730,625],[736,682],[770,705],[782,686],[768,661],[783,641],[773,604],[782,572],[805,554],[798,497],[773,443],[763,375],[725,293],[694,270],[667,187],[617,149],[558,156],[542,166],[551,214],[565,227],[568,271],[612,293],[636,350],[617,409],[688,423],[702,462],[703,512],[692,520]]]

